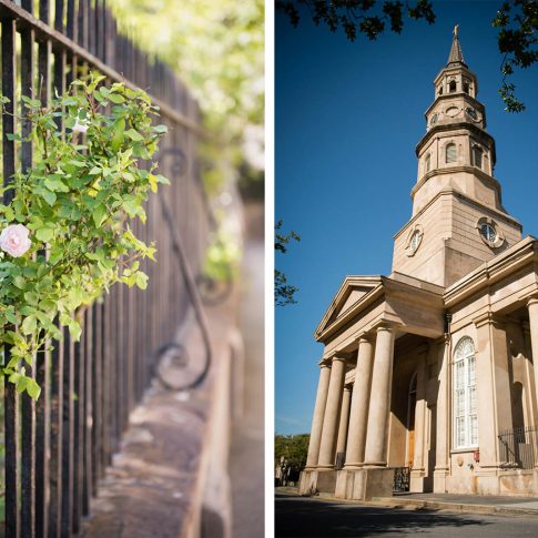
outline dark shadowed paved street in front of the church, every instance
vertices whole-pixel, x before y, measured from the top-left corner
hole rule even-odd
[[[538,536],[538,517],[499,517],[407,510],[276,494],[277,538],[357,536],[507,538]]]

